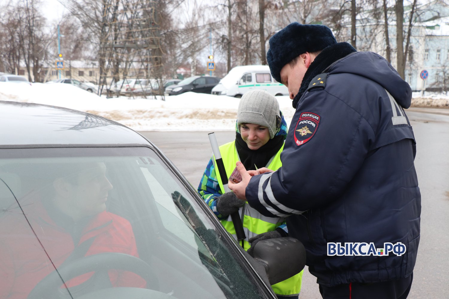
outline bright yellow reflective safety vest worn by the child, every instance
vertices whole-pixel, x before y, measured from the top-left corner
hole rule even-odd
[[[226,175],[229,176],[233,172],[235,168],[235,164],[237,161],[240,161],[240,158],[237,153],[237,149],[235,147],[235,140],[226,144],[223,144],[219,147],[221,158],[223,159],[223,164],[225,165]],[[281,152],[284,149],[284,145],[279,149],[279,151],[274,155],[268,162],[268,164],[265,166],[268,169],[277,170],[279,167],[282,166],[281,163]],[[215,156],[214,159],[214,166],[216,169],[216,161]],[[223,183],[221,182],[221,177],[218,169],[215,171],[217,176],[218,184],[220,185],[221,194],[225,193],[225,188],[223,186]],[[258,234],[265,233],[267,231],[273,231],[275,230],[279,225],[281,225],[285,218],[273,218],[273,217],[266,217],[254,208],[251,208],[251,206],[248,204],[248,202],[245,203],[245,205],[238,210],[238,213],[242,219],[243,224],[243,230],[245,231],[246,238],[240,242],[243,242],[243,249],[248,250],[250,247],[250,243],[248,242],[248,239],[255,237]],[[234,225],[232,223],[231,216],[227,219],[220,220],[220,222],[223,224],[225,229],[233,236],[234,239],[237,240],[237,235],[235,233]],[[292,276],[290,278],[287,278],[286,280],[282,282],[278,282],[277,284],[274,284],[271,286],[273,288],[274,293],[277,295],[298,295],[299,291],[301,290],[301,279],[303,276],[303,271],[296,274],[295,276]]]

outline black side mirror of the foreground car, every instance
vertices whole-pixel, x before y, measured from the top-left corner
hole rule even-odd
[[[253,255],[254,260],[264,267],[270,285],[298,274],[306,264],[303,243],[292,237],[260,241],[255,245]]]

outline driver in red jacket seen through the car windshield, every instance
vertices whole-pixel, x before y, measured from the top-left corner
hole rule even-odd
[[[138,257],[129,221],[106,211],[112,185],[104,163],[55,164],[42,175],[49,177],[47,186],[19,198],[20,207],[0,217],[0,298],[26,298],[55,268],[84,256]],[[137,274],[114,269],[62,280],[72,295],[99,286],[146,286]]]

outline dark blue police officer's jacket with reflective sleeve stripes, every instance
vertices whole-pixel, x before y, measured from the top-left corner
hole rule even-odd
[[[251,178],[249,204],[288,217],[289,235],[304,243],[309,271],[322,285],[408,277],[421,214],[415,139],[404,112],[409,85],[382,56],[353,52],[299,96],[282,168]],[[396,253],[385,243],[397,245]]]

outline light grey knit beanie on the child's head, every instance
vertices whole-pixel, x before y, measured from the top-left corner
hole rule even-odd
[[[264,126],[268,128],[272,139],[280,120],[279,103],[273,95],[264,90],[253,90],[243,94],[237,109],[238,128],[244,123]]]

